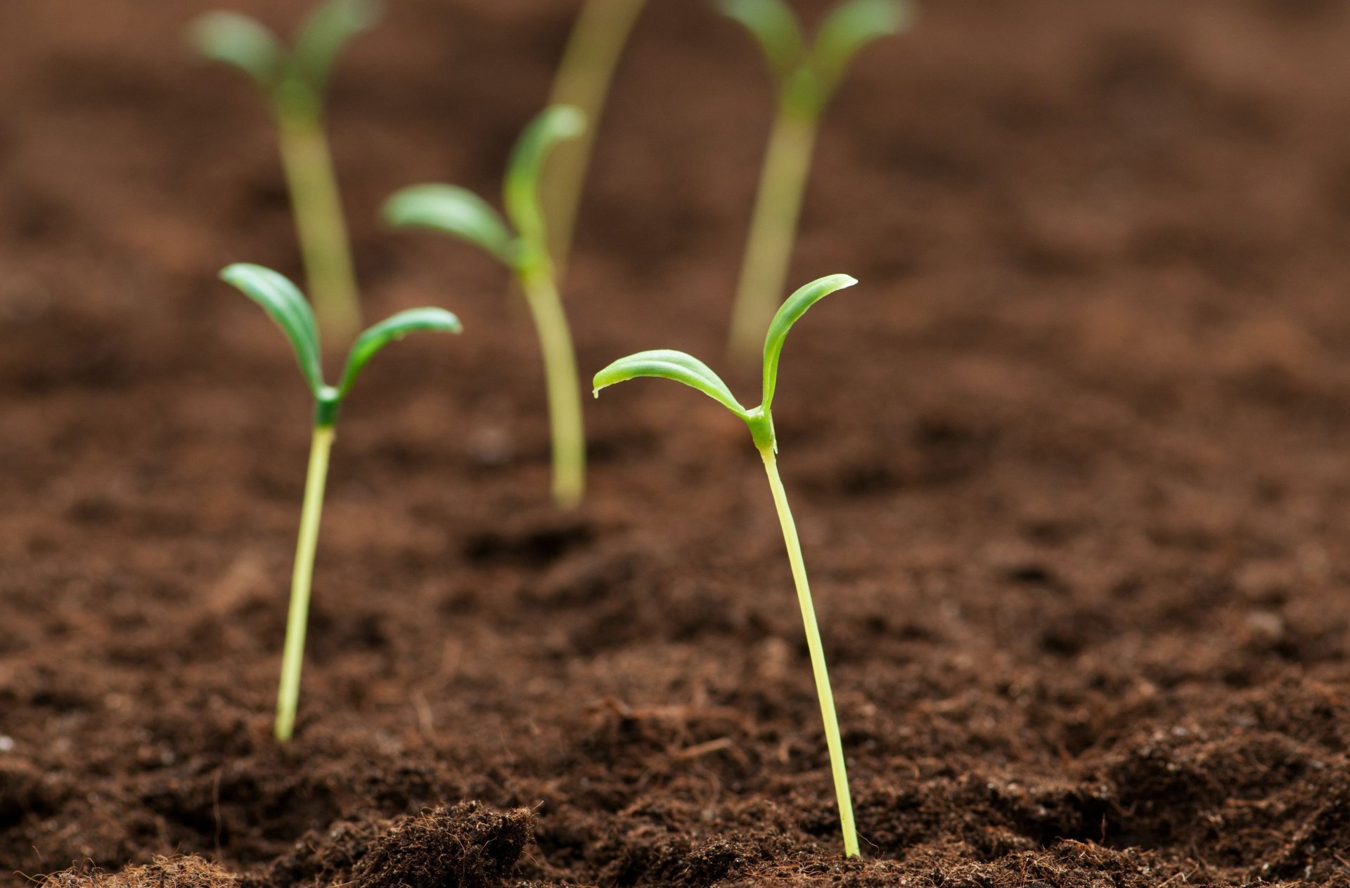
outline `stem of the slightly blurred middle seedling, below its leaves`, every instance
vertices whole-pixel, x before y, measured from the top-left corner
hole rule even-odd
[[[524,273],[520,282],[544,355],[548,422],[554,441],[554,501],[571,509],[580,503],[586,490],[586,432],[572,335],[552,275],[547,271]]]

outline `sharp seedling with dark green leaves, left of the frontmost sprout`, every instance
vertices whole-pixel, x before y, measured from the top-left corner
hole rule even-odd
[[[321,352],[315,314],[294,283],[256,265],[232,265],[220,273],[220,278],[242,290],[277,321],[296,350],[300,372],[315,397],[315,431],[309,448],[309,472],[305,476],[305,501],[300,513],[296,568],[290,580],[290,613],[286,617],[286,644],[281,657],[281,686],[277,691],[274,733],[278,741],[285,742],[296,729],[300,668],[305,656],[305,625],[309,622],[309,587],[315,575],[315,548],[319,544],[319,520],[324,509],[328,453],[332,449],[338,412],[351,391],[356,375],[381,348],[418,331],[458,333],[460,325],[459,318],[439,308],[398,312],[356,337],[347,355],[342,381],[336,386],[329,386],[324,383],[320,366]]]

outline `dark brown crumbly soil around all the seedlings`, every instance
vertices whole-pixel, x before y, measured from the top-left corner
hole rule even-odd
[[[184,49],[205,3],[0,3],[0,883],[1350,883],[1350,7],[933,0],[849,77],[792,279],[863,285],[776,405],[844,862],[745,429],[608,393],[556,511],[504,273],[374,223],[495,190],[575,4],[389,5],[332,101],[366,304],[467,332],[348,404],[278,748],[309,408],[213,279],[298,273],[271,131]],[[768,108],[734,26],[651,4],[568,286],[586,374],[725,363]]]

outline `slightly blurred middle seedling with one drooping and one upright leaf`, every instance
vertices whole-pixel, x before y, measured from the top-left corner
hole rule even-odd
[[[575,139],[585,128],[586,116],[570,105],[545,108],[525,127],[506,165],[502,189],[502,204],[510,224],[483,198],[456,185],[413,185],[385,204],[389,224],[462,238],[482,247],[514,274],[535,320],[544,356],[554,445],[554,499],[567,507],[580,502],[586,487],[586,437],[576,355],[558,294],[554,263],[548,256],[548,227],[540,206],[539,182],[549,150]]]

